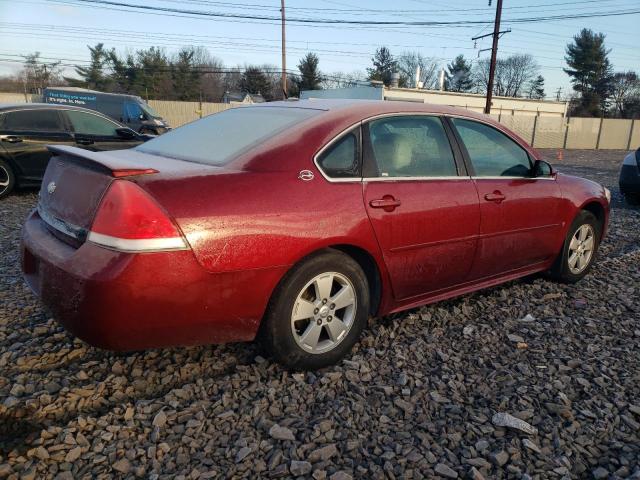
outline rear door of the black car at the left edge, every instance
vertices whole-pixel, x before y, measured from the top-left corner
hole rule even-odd
[[[51,153],[47,145],[72,145],[73,137],[65,131],[56,109],[20,109],[0,117],[0,142],[24,180],[39,181],[47,168]]]

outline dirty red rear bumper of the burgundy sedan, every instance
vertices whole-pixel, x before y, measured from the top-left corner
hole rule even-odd
[[[256,335],[284,267],[211,274],[190,250],[144,254],[54,237],[37,212],[22,235],[29,287],[71,333],[109,350],[234,341]]]

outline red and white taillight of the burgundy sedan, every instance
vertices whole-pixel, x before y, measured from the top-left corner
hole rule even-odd
[[[87,240],[128,252],[187,247],[177,227],[155,200],[127,180],[111,183]]]

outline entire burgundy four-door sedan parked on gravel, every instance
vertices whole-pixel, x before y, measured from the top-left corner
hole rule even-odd
[[[293,368],[381,316],[590,269],[609,192],[467,110],[299,101],[227,110],[133,150],[51,147],[23,230],[54,316],[113,350],[250,341]]]

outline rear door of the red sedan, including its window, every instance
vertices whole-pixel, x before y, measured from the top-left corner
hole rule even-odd
[[[429,115],[364,127],[365,206],[397,300],[463,283],[473,263],[478,195],[445,128]]]

